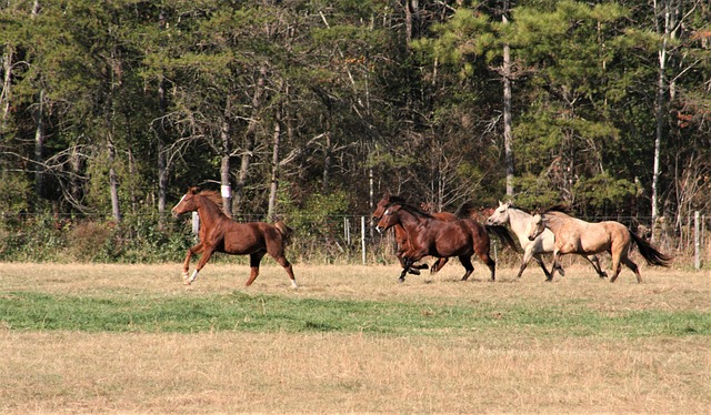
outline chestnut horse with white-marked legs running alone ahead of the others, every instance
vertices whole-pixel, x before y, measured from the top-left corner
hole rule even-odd
[[[264,254],[269,253],[279,265],[283,266],[291,280],[291,286],[297,287],[291,264],[284,257],[284,245],[292,232],[283,222],[273,225],[264,222],[238,223],[222,213],[222,198],[218,192],[199,191],[190,188],[180,202],[172,209],[173,216],[186,212],[198,211],[200,215],[200,243],[188,250],[182,265],[182,277],[186,284],[192,283],[212,253],[224,252],[232,255],[249,255],[251,273],[246,286],[251,285],[259,275],[259,264]],[[189,276],[190,257],[202,253],[196,270]]]

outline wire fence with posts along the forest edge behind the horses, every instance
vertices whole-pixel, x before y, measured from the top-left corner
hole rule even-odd
[[[196,217],[196,216],[193,216]],[[316,216],[314,216],[316,217]],[[259,221],[240,215],[237,221]],[[592,217],[614,220],[629,226],[662,252],[677,257],[674,266],[702,269],[711,261],[711,217],[693,212],[674,223],[661,220],[653,229],[648,217]],[[116,224],[106,215],[71,215],[0,212],[0,261],[174,261],[197,242],[198,225],[190,215],[127,215]],[[397,249],[391,231],[375,231],[370,215],[319,216],[287,223],[294,229],[290,256],[303,263],[393,263]],[[520,254],[492,245],[498,261],[517,264]],[[92,252],[97,252],[92,254]]]

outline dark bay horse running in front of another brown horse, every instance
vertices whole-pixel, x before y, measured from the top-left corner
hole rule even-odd
[[[408,234],[408,246],[402,254],[404,265],[400,274],[400,282],[404,281],[410,266],[427,255],[459,257],[465,270],[462,281],[467,281],[474,271],[471,263],[471,256],[474,253],[491,271],[491,280],[495,280],[495,262],[489,255],[489,234],[479,222],[470,219],[443,222],[415,206],[395,203],[385,209],[377,229],[382,232],[397,224],[402,225]],[[505,227],[500,227],[498,231],[502,231],[502,233],[499,235],[502,236],[504,244],[515,249],[509,232]],[[508,239],[503,235],[508,235]]]

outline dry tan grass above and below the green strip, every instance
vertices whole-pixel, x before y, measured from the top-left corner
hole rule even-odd
[[[711,275],[643,269],[615,284],[589,267],[543,283],[458,264],[397,284],[394,266],[267,266],[250,292],[296,297],[565,303],[602,311],[709,311]],[[2,293],[201,295],[243,290],[244,265],[209,264],[190,287],[170,265],[0,264]],[[0,327],[3,413],[709,413],[708,336],[535,337],[18,332]]]

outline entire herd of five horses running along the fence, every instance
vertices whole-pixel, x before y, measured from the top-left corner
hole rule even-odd
[[[259,265],[266,254],[271,255],[286,271],[291,286],[297,287],[293,270],[284,256],[284,246],[292,230],[283,222],[239,223],[222,212],[222,198],[218,192],[190,188],[172,209],[173,216],[197,211],[200,216],[199,243],[188,250],[182,266],[186,284],[191,284],[214,252],[250,256],[250,276],[246,285],[251,285],[259,275]],[[494,235],[504,246],[518,251],[513,231],[523,250],[519,267],[520,277],[531,260],[534,260],[545,273],[545,281],[552,281],[555,272],[564,275],[560,259],[567,254],[579,254],[587,259],[600,277],[608,274],[600,266],[597,254],[608,252],[612,257],[612,277],[614,282],[622,264],[634,272],[638,282],[642,282],[639,266],[629,257],[630,249],[638,246],[648,264],[669,266],[672,257],[659,252],[649,242],[638,236],[627,226],[614,221],[598,223],[573,217],[561,206],[529,214],[511,203],[501,203],[484,224],[473,219],[469,205],[462,205],[455,214],[449,212],[428,213],[403,198],[385,193],[372,213],[378,223],[378,232],[394,229],[398,250],[395,255],[402,265],[400,282],[408,273],[419,274],[427,264],[418,264],[425,256],[437,262],[430,272],[435,273],[447,261],[457,256],[464,267],[462,281],[467,281],[474,270],[471,257],[477,254],[489,267],[491,280],[495,280],[495,262],[490,255],[491,240]],[[549,271],[542,254],[553,253],[553,265]],[[189,273],[190,259],[202,254],[192,274]]]

